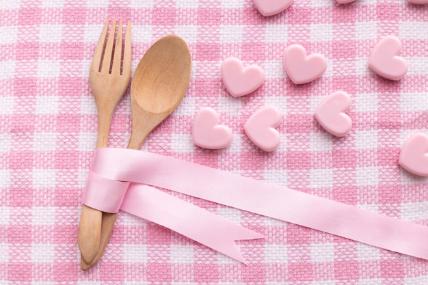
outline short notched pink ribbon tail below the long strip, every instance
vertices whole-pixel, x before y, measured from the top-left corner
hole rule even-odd
[[[131,183],[120,207],[246,264],[235,243],[264,236],[154,187]]]

